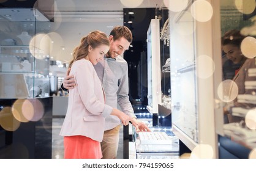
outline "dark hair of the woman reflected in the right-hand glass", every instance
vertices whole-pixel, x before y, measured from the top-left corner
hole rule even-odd
[[[235,45],[240,48],[245,35],[242,35],[239,30],[233,29],[225,32],[224,36],[221,38],[221,45]]]

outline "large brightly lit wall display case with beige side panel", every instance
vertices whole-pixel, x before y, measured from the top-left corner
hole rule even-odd
[[[218,34],[214,3],[189,1],[183,10],[169,11],[173,133],[192,153],[195,147],[208,145],[213,151],[209,158],[217,157],[214,76],[220,66],[220,60],[214,60],[213,37]],[[207,13],[200,15],[200,10]]]

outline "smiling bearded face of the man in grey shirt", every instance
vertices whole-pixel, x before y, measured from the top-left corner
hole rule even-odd
[[[108,39],[110,40],[110,50],[107,53],[107,57],[116,58],[129,49],[130,42],[128,42],[124,37],[118,38],[114,41],[113,36],[110,35]]]

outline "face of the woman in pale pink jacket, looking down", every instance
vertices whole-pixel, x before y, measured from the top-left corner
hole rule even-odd
[[[88,60],[92,65],[96,65],[100,60],[104,59],[104,55],[108,52],[108,45],[99,45],[96,48],[89,46]]]

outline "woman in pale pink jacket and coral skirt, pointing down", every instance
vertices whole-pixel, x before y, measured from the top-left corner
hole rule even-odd
[[[133,123],[128,115],[105,104],[102,84],[92,66],[103,59],[109,46],[107,35],[94,31],[83,37],[73,51],[69,67],[77,84],[70,89],[60,133],[64,136],[64,158],[102,158],[100,142],[107,114],[117,116],[124,125]]]

